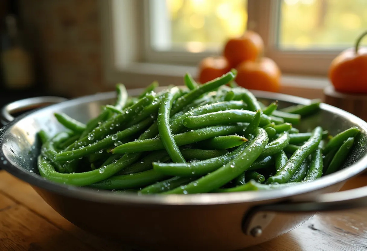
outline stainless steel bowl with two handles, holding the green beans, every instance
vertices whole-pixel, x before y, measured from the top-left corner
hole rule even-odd
[[[130,95],[137,92],[131,90]],[[278,100],[280,106],[310,102],[269,92],[254,91],[254,94],[264,103]],[[357,126],[361,134],[342,170],[292,189],[137,196],[96,192],[41,178],[36,167],[39,154],[36,133],[40,129],[51,134],[63,130],[53,113],[64,112],[86,122],[97,116],[101,105],[112,103],[114,99],[113,92],[81,97],[24,114],[9,122],[0,131],[1,168],[30,183],[52,208],[80,228],[145,249],[235,250],[286,233],[316,211],[367,205],[367,188],[335,193],[347,179],[367,167],[367,123],[326,104],[321,104],[320,112],[304,119],[299,129],[306,131],[321,125],[331,134],[337,134]],[[3,114],[25,107],[26,103],[6,106]],[[11,116],[3,116],[6,122],[11,119]]]

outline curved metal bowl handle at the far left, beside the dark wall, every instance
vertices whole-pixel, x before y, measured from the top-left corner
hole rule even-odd
[[[6,125],[10,121],[14,120],[14,117],[11,115],[11,113],[39,108],[42,106],[60,103],[66,100],[67,100],[66,98],[62,97],[45,96],[45,97],[26,98],[11,102],[5,105],[3,108],[1,108],[0,122],[3,125]]]

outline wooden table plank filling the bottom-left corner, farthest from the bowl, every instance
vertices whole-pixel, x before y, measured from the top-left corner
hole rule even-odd
[[[0,193],[1,250],[95,250]]]

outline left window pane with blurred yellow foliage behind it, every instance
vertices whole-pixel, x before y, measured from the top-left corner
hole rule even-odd
[[[151,1],[152,46],[201,52],[222,46],[246,29],[247,0]]]

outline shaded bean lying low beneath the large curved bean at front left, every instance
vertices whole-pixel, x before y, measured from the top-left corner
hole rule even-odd
[[[155,170],[148,170],[134,174],[112,176],[103,181],[91,184],[89,187],[106,190],[139,188],[141,186],[146,186],[166,178],[167,175],[160,174]]]

